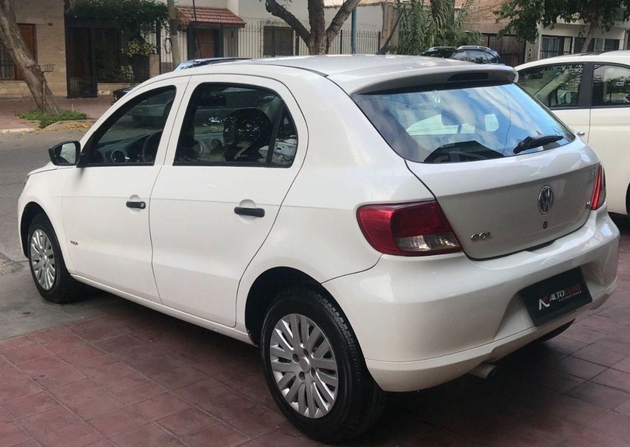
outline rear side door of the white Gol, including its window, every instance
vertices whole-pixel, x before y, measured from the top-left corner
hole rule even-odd
[[[302,165],[306,123],[283,84],[255,76],[193,76],[184,104],[151,195],[157,289],[166,306],[234,326],[239,281]]]

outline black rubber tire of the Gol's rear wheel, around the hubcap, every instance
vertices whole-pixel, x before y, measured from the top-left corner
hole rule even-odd
[[[306,316],[321,328],[337,363],[335,402],[328,414],[318,418],[307,417],[294,409],[280,392],[273,375],[272,332],[281,318],[292,313]],[[324,443],[347,441],[367,430],[381,415],[386,394],[367,370],[350,323],[336,303],[316,287],[291,287],[278,294],[265,317],[260,352],[273,399],[285,417],[309,438]]]

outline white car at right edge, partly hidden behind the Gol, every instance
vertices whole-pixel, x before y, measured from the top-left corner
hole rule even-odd
[[[609,211],[630,213],[630,51],[571,54],[517,67],[518,84],[595,149]]]

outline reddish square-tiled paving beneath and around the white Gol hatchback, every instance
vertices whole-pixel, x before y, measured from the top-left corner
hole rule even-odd
[[[630,446],[630,236],[619,289],[546,344],[392,395],[361,446]],[[121,299],[0,341],[0,446],[316,445],[285,422],[248,345]]]

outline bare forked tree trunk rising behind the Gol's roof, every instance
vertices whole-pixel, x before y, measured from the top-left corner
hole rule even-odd
[[[326,20],[324,18],[324,0],[307,1],[310,30],[307,30],[306,26],[289,12],[289,9],[278,4],[277,0],[265,0],[265,8],[267,12],[281,18],[287,22],[287,25],[295,30],[297,35],[306,43],[309,53],[326,54],[328,53],[331,42],[333,42],[339,30],[341,30],[341,26],[348,19],[348,16],[352,13],[352,9],[357,6],[360,0],[345,0],[343,4],[341,4],[335,17],[333,17],[330,25],[328,25],[328,28],[326,28]]]

